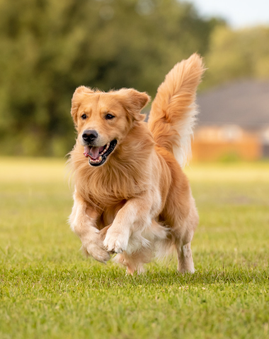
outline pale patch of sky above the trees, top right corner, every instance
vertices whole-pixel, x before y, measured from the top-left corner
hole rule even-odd
[[[202,16],[220,16],[233,28],[269,25],[269,0],[189,0]]]

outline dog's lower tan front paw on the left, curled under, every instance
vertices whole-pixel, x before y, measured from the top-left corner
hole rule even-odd
[[[97,261],[101,263],[105,263],[110,259],[110,255],[105,250],[103,246],[103,242],[99,237],[99,234],[95,234],[95,237],[86,237],[82,242],[82,250],[86,254],[86,256],[92,256]]]

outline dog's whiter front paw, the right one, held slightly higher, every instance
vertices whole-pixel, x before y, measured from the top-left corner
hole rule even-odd
[[[103,242],[105,249],[112,253],[122,253],[126,251],[129,242],[129,232],[115,230],[115,227],[111,226],[106,233],[105,240]]]

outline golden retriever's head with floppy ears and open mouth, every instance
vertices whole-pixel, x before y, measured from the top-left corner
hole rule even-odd
[[[78,131],[78,141],[91,166],[101,166],[117,144],[127,136],[150,97],[133,89],[103,93],[81,86],[72,97],[71,115]]]

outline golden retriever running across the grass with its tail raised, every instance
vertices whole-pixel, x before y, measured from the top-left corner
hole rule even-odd
[[[76,88],[69,220],[87,255],[105,262],[116,253],[133,274],[176,248],[178,270],[194,272],[190,242],[198,212],[181,167],[191,153],[203,71],[198,54],[176,64],[159,86],[148,123],[140,113],[147,93]]]

